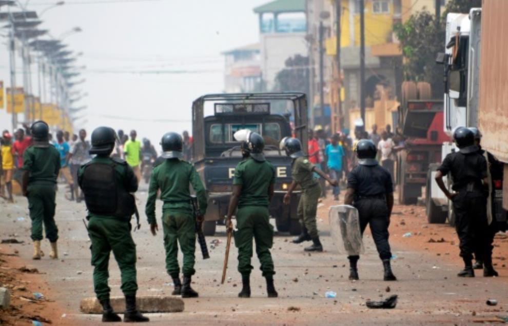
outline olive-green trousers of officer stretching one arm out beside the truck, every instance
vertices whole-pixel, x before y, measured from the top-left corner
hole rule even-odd
[[[311,238],[318,237],[316,214],[319,196],[321,196],[321,187],[316,183],[314,186],[302,189],[300,202],[298,203],[297,216],[300,220],[300,225],[307,229]]]

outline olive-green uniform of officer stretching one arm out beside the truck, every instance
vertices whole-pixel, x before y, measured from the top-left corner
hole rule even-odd
[[[318,199],[321,195],[319,181],[312,174],[314,166],[307,157],[295,158],[292,162],[292,177],[302,188],[300,202],[298,203],[297,215],[302,227],[307,229],[311,238],[318,237],[316,214]]]

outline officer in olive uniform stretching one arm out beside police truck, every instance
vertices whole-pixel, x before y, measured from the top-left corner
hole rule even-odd
[[[287,156],[293,159],[291,174],[293,182],[289,186],[284,203],[289,205],[291,193],[297,185],[302,188],[300,202],[298,203],[298,218],[302,226],[302,234],[293,239],[293,243],[302,243],[303,241],[312,240],[312,245],[305,248],[305,251],[323,251],[323,246],[319,240],[318,226],[316,223],[316,214],[318,210],[318,199],[321,195],[321,187],[314,172],[319,174],[323,179],[329,182],[331,186],[339,186],[339,182],[330,179],[323,171],[312,165],[308,158],[302,152],[302,144],[297,138],[286,137],[281,140],[281,150],[285,150]]]

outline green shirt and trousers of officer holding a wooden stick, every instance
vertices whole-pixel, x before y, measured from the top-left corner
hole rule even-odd
[[[238,271],[250,275],[253,269],[252,238],[256,240],[263,276],[275,274],[270,248],[273,244],[273,226],[268,214],[268,189],[275,182],[275,168],[268,161],[258,162],[253,158],[241,161],[235,168],[233,185],[241,185],[242,192],[236,214],[237,229],[234,233],[238,248]]]

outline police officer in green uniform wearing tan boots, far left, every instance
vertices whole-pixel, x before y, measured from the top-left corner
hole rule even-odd
[[[33,144],[23,154],[23,195],[28,198],[30,219],[32,220],[33,256],[41,259],[41,240],[43,223],[46,238],[51,244],[49,257],[58,258],[56,240],[58,228],[54,220],[56,177],[60,171],[60,154],[48,142],[49,128],[44,121],[36,121],[31,126]]]

